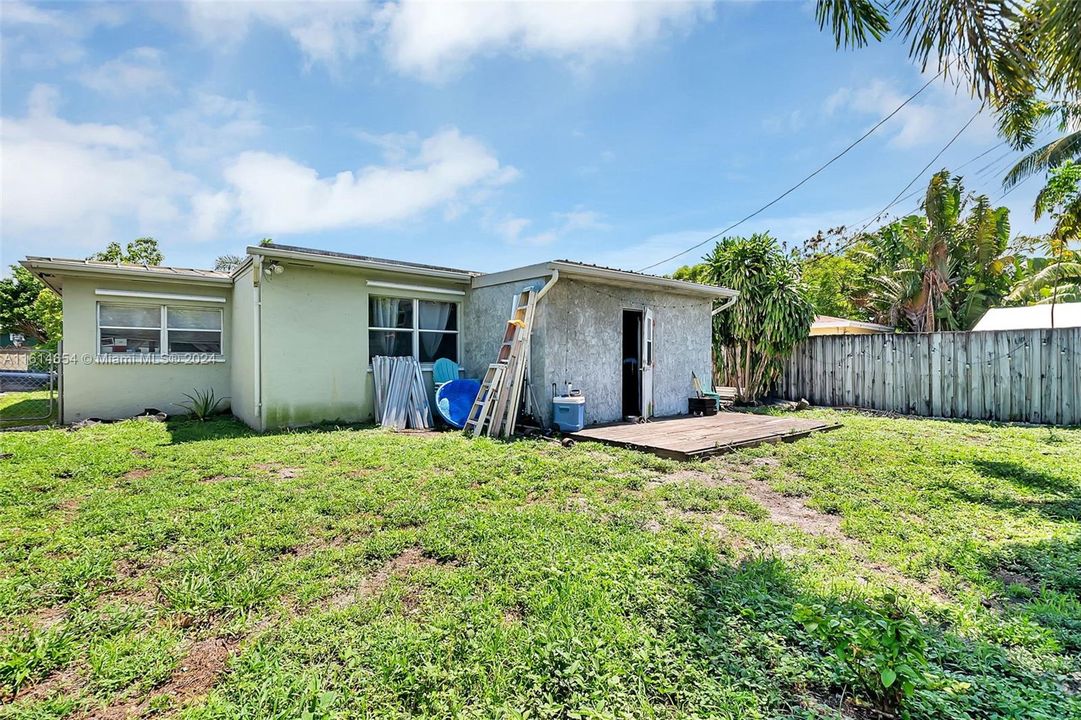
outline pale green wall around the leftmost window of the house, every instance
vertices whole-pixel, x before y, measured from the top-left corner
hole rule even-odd
[[[66,278],[64,282],[64,423],[76,423],[86,417],[107,419],[128,417],[147,408],[170,414],[186,412],[177,403],[184,394],[196,389],[213,389],[218,397],[230,395],[229,363],[233,348],[229,331],[231,312],[229,303],[183,303],[145,298],[98,297],[97,289],[148,293],[182,293],[213,295],[227,301],[228,286],[204,286],[160,281],[131,281],[116,279]],[[224,361],[209,364],[190,363],[123,363],[98,362],[97,303],[99,301],[124,305],[161,304],[221,308],[223,312]],[[228,408],[228,403],[223,405]]]

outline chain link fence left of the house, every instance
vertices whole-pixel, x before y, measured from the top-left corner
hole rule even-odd
[[[56,354],[18,348],[0,355],[0,429],[55,424],[59,414]]]

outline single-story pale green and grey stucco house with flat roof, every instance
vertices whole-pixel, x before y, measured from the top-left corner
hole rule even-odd
[[[438,358],[481,377],[517,294],[536,308],[530,390],[550,421],[568,385],[589,424],[686,412],[710,377],[711,316],[735,291],[553,261],[480,274],[270,243],[231,272],[27,257],[64,298],[62,419],[181,412],[213,389],[256,429],[374,416],[371,358]]]

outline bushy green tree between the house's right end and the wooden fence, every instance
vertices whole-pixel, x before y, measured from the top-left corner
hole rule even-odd
[[[814,308],[799,265],[769,234],[723,238],[705,263],[711,283],[739,291],[736,303],[713,318],[717,372],[742,400],[752,402],[808,336]]]

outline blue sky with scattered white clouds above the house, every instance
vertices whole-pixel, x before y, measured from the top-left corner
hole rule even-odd
[[[810,2],[5,1],[0,31],[4,265],[151,235],[196,267],[272,237],[479,270],[638,269],[925,81],[899,41],[837,51]],[[977,107],[936,82],[734,232],[796,243],[865,221]],[[982,115],[925,175],[998,143]],[[967,187],[998,199],[1012,157],[970,162]],[[1040,229],[1038,185],[1002,201],[1015,231]]]

